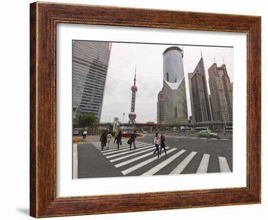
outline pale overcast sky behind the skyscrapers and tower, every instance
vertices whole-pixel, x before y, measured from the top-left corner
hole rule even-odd
[[[156,122],[157,94],[163,87],[163,52],[171,46],[139,43],[113,43],[104,92],[101,122],[113,122],[118,117],[121,122],[125,112],[124,123],[128,122],[131,108],[131,86],[134,84],[136,66],[136,104],[137,123]],[[226,64],[230,81],[233,82],[233,49],[226,47],[183,46],[184,76],[188,117],[191,115],[188,73],[192,73],[203,53],[207,81],[208,68]],[[209,82],[208,82],[209,86]],[[210,90],[209,90],[210,93]]]

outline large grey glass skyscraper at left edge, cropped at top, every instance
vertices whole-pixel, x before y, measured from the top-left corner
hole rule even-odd
[[[73,117],[94,114],[100,120],[112,43],[73,41]]]

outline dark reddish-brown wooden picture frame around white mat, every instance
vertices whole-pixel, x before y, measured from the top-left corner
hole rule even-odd
[[[56,24],[247,34],[247,186],[56,196]],[[34,2],[30,4],[30,215],[36,218],[261,202],[261,17]],[[157,204],[161,203],[161,206]]]

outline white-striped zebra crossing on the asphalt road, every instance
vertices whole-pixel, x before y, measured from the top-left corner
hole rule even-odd
[[[111,142],[109,149],[101,149],[100,142],[92,143],[96,149],[109,160],[123,175],[128,176],[151,176],[166,174],[185,174],[187,167],[196,166],[194,173],[207,173],[211,155],[197,153],[182,148],[166,147],[168,156],[162,149],[162,156],[158,159],[153,156],[155,145],[136,140],[135,147],[130,149],[127,140],[122,140],[122,145]],[[160,147],[159,147],[160,148]],[[199,154],[199,156],[197,156]],[[215,160],[215,156],[214,159]],[[231,172],[228,161],[225,157],[216,158],[220,172]],[[164,172],[164,173],[163,173]],[[193,172],[190,172],[193,173]]]

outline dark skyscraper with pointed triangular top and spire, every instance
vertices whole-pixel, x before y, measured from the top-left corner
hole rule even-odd
[[[212,121],[211,103],[202,52],[193,73],[188,73],[188,82],[193,122]]]

